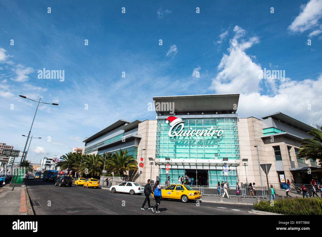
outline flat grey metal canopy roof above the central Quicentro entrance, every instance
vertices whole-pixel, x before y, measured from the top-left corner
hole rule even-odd
[[[174,102],[175,112],[236,111],[233,108],[234,104],[238,106],[239,94],[163,96],[153,97],[153,100],[155,103]],[[161,107],[156,113],[163,111],[162,109]]]

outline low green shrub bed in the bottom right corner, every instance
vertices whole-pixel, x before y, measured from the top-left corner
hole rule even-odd
[[[322,199],[320,198],[290,198],[274,201],[260,201],[254,204],[257,211],[279,213],[284,215],[321,215]]]

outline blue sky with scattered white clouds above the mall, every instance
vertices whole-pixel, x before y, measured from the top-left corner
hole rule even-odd
[[[322,125],[321,18],[322,0],[1,1],[0,142],[24,149],[35,105],[21,94],[59,103],[37,112],[35,163],[118,119],[155,119],[153,96],[240,93],[240,118]],[[43,68],[64,81],[38,79]],[[264,68],[286,78],[259,78]]]

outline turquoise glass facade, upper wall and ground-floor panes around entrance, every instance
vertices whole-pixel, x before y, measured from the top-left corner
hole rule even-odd
[[[157,119],[156,130],[156,158],[164,159],[220,159],[224,157],[228,159],[240,159],[239,140],[237,131],[237,118],[198,118],[185,119],[183,133],[188,130],[195,130],[195,134],[203,134],[198,130],[208,130],[213,128],[223,129],[221,136],[214,133],[213,136],[169,136],[171,126],[166,123],[166,119]],[[180,128],[179,128],[180,129]],[[173,131],[173,130],[172,130]],[[219,161],[222,162],[222,161]],[[198,168],[199,170],[199,168]],[[217,185],[218,182],[226,181],[223,169],[203,170],[203,173],[191,173],[187,169],[170,168],[168,176],[170,176],[170,184],[178,183],[178,177],[186,174],[192,175],[194,180],[203,180],[206,185]],[[198,177],[197,177],[198,176]],[[236,170],[229,170],[227,181],[231,186],[236,185]],[[159,169],[159,182],[166,182],[165,167]],[[198,185],[200,185],[198,183]]]

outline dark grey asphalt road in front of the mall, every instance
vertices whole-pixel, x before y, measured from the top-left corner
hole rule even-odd
[[[59,187],[41,179],[26,180],[28,194],[36,215],[48,214],[142,214],[142,215],[251,215],[252,205],[205,203],[182,203],[180,200],[162,200],[160,213],[141,210],[145,196],[111,193],[107,189],[82,186]],[[150,197],[151,206],[155,204]],[[145,208],[147,208],[147,204]]]

